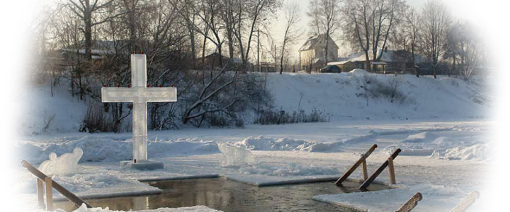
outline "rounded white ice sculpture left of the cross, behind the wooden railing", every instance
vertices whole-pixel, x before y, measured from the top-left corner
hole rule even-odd
[[[50,160],[41,163],[39,170],[48,176],[67,175],[79,172],[81,167],[78,161],[83,155],[83,150],[77,147],[72,153],[64,153],[57,158],[56,153],[50,153]]]

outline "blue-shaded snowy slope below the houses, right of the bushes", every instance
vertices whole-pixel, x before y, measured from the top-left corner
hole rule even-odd
[[[354,69],[351,73],[269,73],[267,88],[277,110],[319,110],[328,113],[331,121],[345,121],[487,117],[489,104],[478,97],[482,85],[447,76],[416,78]],[[391,102],[392,86],[402,101]]]

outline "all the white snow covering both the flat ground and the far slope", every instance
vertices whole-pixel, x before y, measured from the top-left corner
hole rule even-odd
[[[365,98],[360,86],[367,75],[357,72],[269,76],[268,88],[275,97],[276,108],[324,110],[330,114],[331,122],[149,131],[149,159],[162,161],[165,166],[156,171],[121,168],[120,160],[131,159],[130,133],[77,133],[86,105],[72,100],[65,90],[50,98],[46,88],[33,88],[24,97],[35,103],[21,111],[28,116],[23,119],[25,127],[19,130],[20,141],[13,144],[16,157],[9,161],[13,175],[19,179],[13,186],[20,191],[17,197],[27,202],[23,210],[37,210],[35,177],[18,162],[23,159],[38,166],[50,153],[62,155],[75,147],[84,152],[79,171],[53,179],[78,196],[104,197],[159,191],[140,179],[220,175],[250,184],[271,184],[339,177],[377,143],[378,148],[367,160],[368,172],[377,169],[396,148],[402,148],[395,160],[399,189],[325,194],[310,199],[362,211],[394,211],[412,194],[421,192],[424,199],[413,211],[449,211],[467,194],[479,191],[480,199],[470,211],[480,211],[477,207],[485,201],[484,172],[492,161],[493,140],[492,122],[487,121],[486,115],[490,97],[482,95],[485,86],[456,78],[398,76],[398,89],[406,98],[392,103],[384,97]],[[368,77],[380,83],[392,80],[390,76]],[[42,133],[45,119],[53,114],[57,114],[55,121]],[[254,161],[237,167],[223,166],[227,158],[218,147],[222,143],[249,151]],[[358,169],[351,178],[361,176]],[[389,183],[387,170],[378,181]],[[199,206],[173,211],[213,209]]]

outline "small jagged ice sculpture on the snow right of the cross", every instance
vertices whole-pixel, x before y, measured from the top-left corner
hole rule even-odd
[[[244,146],[237,147],[228,143],[218,143],[218,148],[223,156],[225,156],[225,158],[220,160],[222,167],[256,164],[254,156]]]

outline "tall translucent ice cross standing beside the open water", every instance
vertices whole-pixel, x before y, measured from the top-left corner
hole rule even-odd
[[[103,102],[132,102],[132,141],[135,163],[147,161],[147,102],[176,102],[174,87],[147,88],[147,56],[131,54],[132,88],[101,88]]]

